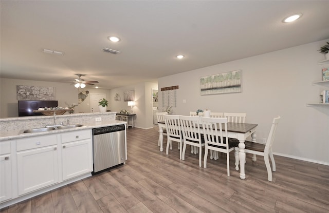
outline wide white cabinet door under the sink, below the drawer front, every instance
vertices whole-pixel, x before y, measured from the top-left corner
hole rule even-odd
[[[17,152],[19,195],[58,183],[57,145]]]

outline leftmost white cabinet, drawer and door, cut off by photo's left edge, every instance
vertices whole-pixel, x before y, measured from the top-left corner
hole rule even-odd
[[[0,201],[12,198],[11,142],[0,143]]]

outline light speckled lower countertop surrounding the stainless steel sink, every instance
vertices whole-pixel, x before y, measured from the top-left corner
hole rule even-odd
[[[81,127],[70,128],[70,129],[56,129],[51,131],[44,131],[44,132],[33,132],[33,133],[23,133],[24,129],[15,130],[15,131],[0,131],[0,142],[7,141],[7,140],[16,140],[21,138],[28,138],[34,137],[39,135],[46,135],[46,134],[58,134],[62,132],[69,132],[69,131],[78,131],[84,129],[94,129],[100,128],[105,126],[115,126],[120,124],[126,124],[125,121],[97,121],[97,122],[90,122],[90,123],[80,123]],[[28,128],[27,128],[28,129]]]

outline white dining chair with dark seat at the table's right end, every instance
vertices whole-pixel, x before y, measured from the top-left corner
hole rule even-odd
[[[272,153],[272,145],[275,139],[275,133],[278,127],[280,121],[280,116],[278,116],[277,118],[274,118],[272,121],[272,126],[271,129],[269,131],[267,140],[266,140],[266,144],[260,144],[260,143],[255,143],[252,141],[245,141],[245,152],[246,153],[251,153],[251,154],[257,154],[259,156],[264,156],[264,162],[265,162],[265,166],[267,169],[267,180],[272,182],[272,171],[276,171],[276,162],[274,160],[273,157],[273,153]],[[239,156],[239,144],[236,145],[235,148],[235,156],[236,154]],[[269,158],[271,159],[272,162],[272,171],[271,171],[271,165],[269,163]],[[239,158],[235,158],[235,169],[239,170]]]

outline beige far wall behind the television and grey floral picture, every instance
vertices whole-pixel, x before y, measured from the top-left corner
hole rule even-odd
[[[54,100],[58,101],[59,106],[66,107],[65,102],[78,103],[77,88],[70,84],[4,78],[0,82],[0,118],[18,117],[16,85],[54,87]]]

